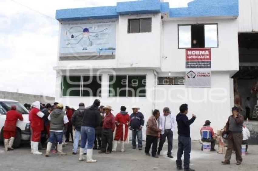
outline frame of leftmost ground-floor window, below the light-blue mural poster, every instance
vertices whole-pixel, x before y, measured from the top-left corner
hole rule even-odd
[[[101,90],[102,90],[102,76],[103,75],[97,75],[97,74],[83,74],[83,75],[77,75],[77,74],[70,74],[69,76],[80,76],[80,96],[63,96],[63,80],[64,76],[68,75],[62,75],[62,83],[61,83],[61,96],[60,97],[69,97],[69,98],[91,98],[91,97],[96,97],[96,98],[101,98],[102,97],[102,91],[100,93],[100,96],[83,96],[83,76],[100,76],[101,77]]]

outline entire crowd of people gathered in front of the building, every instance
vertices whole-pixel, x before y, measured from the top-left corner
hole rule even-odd
[[[24,105],[29,108],[28,104]],[[64,110],[65,108],[65,110]],[[81,137],[79,149],[79,161],[85,160],[87,163],[95,163],[93,159],[93,150],[99,150],[98,153],[110,154],[117,151],[118,142],[121,141],[121,152],[125,151],[124,145],[127,140],[129,130],[132,133],[132,148],[136,149],[136,137],[138,142],[138,150],[143,149],[142,144],[142,128],[144,127],[144,115],[139,111],[138,106],[133,106],[131,115],[126,111],[125,106],[121,106],[121,111],[114,116],[112,107],[100,106],[100,100],[96,99],[92,105],[86,107],[84,103],[79,104],[79,108],[74,110],[69,106],[63,106],[62,103],[55,102],[53,105],[40,104],[33,102],[29,108],[29,121],[31,122],[31,153],[40,155],[39,142],[41,140],[41,132],[47,131],[48,142],[46,146],[46,157],[50,153],[58,153],[66,155],[63,152],[63,147],[70,141],[70,136],[73,143],[73,155],[77,155],[79,147],[79,139]],[[191,153],[191,137],[190,125],[195,121],[196,115],[192,115],[189,120],[188,105],[182,104],[179,107],[178,115],[174,116],[168,107],[163,109],[163,114],[160,114],[158,109],[152,112],[146,124],[146,144],[144,152],[147,156],[158,158],[163,148],[165,140],[168,141],[167,156],[173,158],[171,150],[173,148],[173,131],[177,125],[178,128],[178,151],[176,167],[177,170],[182,170],[182,155],[184,155],[184,170],[193,170],[190,165]],[[241,164],[241,144],[244,140],[247,144],[250,132],[246,131],[243,125],[243,116],[239,114],[237,107],[232,108],[232,113],[228,118],[223,131],[223,136],[228,137],[228,148],[223,164],[230,164],[230,158],[233,149],[236,151],[237,164]],[[14,150],[12,143],[15,139],[16,122],[23,120],[22,115],[16,111],[16,106],[12,106],[7,113],[7,118],[4,126],[5,150]],[[210,127],[211,122],[205,121],[201,128],[202,141],[211,142],[211,151],[215,151],[214,131]],[[74,130],[74,136],[73,136]],[[243,130],[245,138],[243,139]],[[247,129],[248,130],[248,129]],[[203,134],[203,131],[208,131],[210,134]],[[115,134],[114,134],[115,132]],[[114,135],[114,137],[113,137]],[[246,138],[247,137],[247,138]],[[158,139],[160,139],[158,144]],[[152,146],[151,154],[150,148]],[[56,151],[57,149],[57,151]],[[247,148],[246,148],[247,150]]]

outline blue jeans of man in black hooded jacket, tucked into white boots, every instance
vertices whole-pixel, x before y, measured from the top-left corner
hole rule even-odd
[[[92,149],[95,139],[95,129],[93,127],[81,127],[81,148],[85,148],[88,141],[87,148]]]

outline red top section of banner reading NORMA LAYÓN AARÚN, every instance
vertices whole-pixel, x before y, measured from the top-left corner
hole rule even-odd
[[[186,61],[211,61],[211,49],[186,49]]]

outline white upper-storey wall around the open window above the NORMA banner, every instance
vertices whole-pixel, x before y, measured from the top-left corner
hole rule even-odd
[[[164,51],[161,70],[185,71],[185,49],[178,49],[178,24],[196,24],[195,21],[164,21]],[[212,71],[238,70],[238,22],[237,20],[201,20],[199,24],[218,23],[219,47],[211,48]]]

